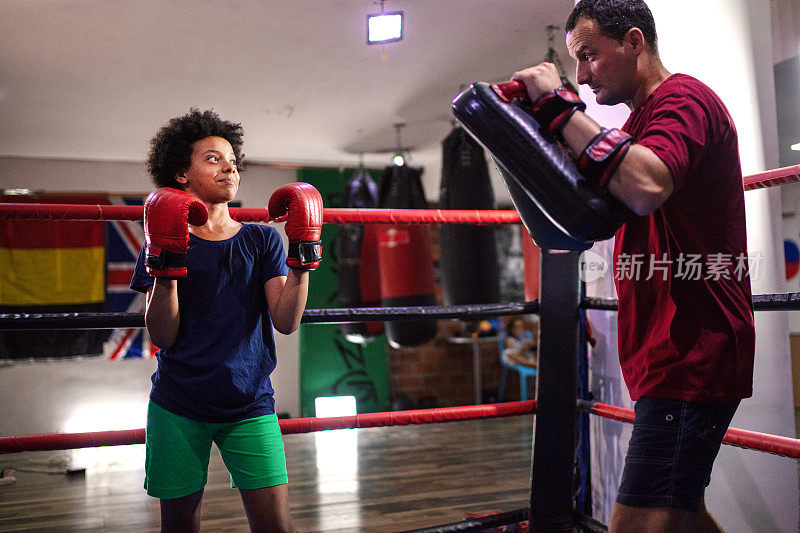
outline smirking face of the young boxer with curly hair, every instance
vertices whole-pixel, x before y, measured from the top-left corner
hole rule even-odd
[[[209,204],[230,202],[239,190],[239,171],[231,144],[222,137],[206,137],[192,145],[191,164],[176,180]]]

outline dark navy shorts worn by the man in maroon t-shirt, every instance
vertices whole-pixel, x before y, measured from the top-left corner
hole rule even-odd
[[[640,398],[617,502],[696,511],[738,406]]]

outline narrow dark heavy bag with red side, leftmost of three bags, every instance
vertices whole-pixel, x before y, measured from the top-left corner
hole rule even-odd
[[[378,207],[378,186],[363,169],[347,184],[344,207]],[[336,236],[339,289],[342,307],[377,307],[380,304],[378,281],[378,238],[374,224],[343,224]],[[383,322],[355,322],[339,326],[342,335],[356,344],[366,344],[383,331]]]

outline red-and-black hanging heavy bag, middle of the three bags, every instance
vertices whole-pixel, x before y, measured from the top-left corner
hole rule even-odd
[[[407,166],[383,171],[379,205],[387,209],[424,209],[420,172]],[[381,305],[386,307],[436,305],[433,252],[429,228],[420,224],[377,228]],[[436,337],[435,320],[386,322],[386,338],[394,348],[424,344]]]

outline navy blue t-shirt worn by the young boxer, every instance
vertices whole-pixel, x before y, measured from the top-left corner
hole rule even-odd
[[[186,266],[178,280],[178,336],[156,354],[150,399],[201,422],[273,414],[269,375],[277,360],[264,284],[288,273],[280,235],[258,224],[224,241],[190,234]],[[152,284],[143,246],[130,286],[146,292]]]

